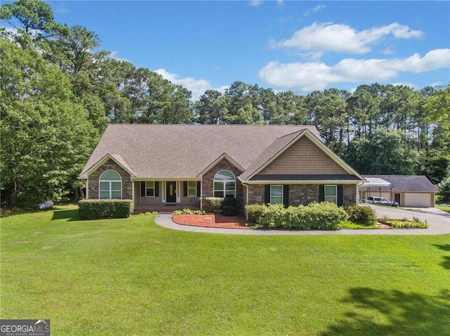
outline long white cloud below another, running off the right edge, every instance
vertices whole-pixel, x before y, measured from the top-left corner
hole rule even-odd
[[[356,60],[346,58],[336,65],[324,62],[269,62],[259,78],[280,89],[323,90],[330,83],[390,81],[400,72],[429,72],[450,67],[450,49],[435,49],[421,57]]]

